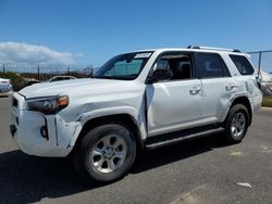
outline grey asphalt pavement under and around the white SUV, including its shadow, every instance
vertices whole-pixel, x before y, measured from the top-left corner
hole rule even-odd
[[[85,183],[69,160],[28,156],[9,132],[0,98],[0,203],[272,203],[272,111],[255,115],[244,141],[222,136],[143,152],[129,175]]]

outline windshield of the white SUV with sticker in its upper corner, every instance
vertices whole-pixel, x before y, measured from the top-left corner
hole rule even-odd
[[[112,58],[100,67],[95,78],[133,80],[137,78],[152,52],[133,52]]]

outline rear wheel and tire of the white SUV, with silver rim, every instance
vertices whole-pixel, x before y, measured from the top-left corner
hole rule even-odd
[[[230,143],[239,143],[247,133],[249,114],[243,104],[231,107],[225,120],[225,137]]]

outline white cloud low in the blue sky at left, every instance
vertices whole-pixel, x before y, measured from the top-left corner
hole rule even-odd
[[[0,42],[0,63],[57,63],[75,64],[82,54],[57,52],[45,46]]]

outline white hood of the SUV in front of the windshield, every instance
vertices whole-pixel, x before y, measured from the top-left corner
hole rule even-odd
[[[139,88],[139,84],[134,80],[113,79],[73,79],[57,82],[41,82],[26,87],[18,91],[26,99],[49,97],[49,95],[81,95],[81,94],[102,94],[107,92],[129,91]]]

